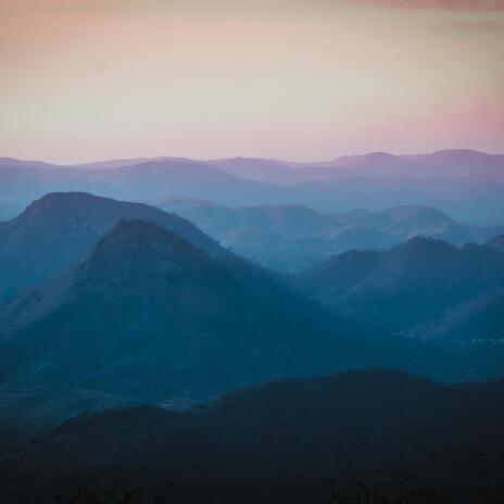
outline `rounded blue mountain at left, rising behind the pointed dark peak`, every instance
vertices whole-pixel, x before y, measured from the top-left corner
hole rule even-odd
[[[121,218],[152,220],[212,255],[225,253],[191,223],[159,209],[83,192],[50,193],[0,223],[0,301],[74,262]]]

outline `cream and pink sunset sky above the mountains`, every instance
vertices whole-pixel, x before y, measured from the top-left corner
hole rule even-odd
[[[504,152],[504,0],[0,0],[0,156]]]

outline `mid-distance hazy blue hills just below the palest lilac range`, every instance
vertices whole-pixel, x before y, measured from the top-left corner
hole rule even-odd
[[[179,198],[149,203],[191,220],[236,253],[285,273],[306,269],[346,250],[389,249],[415,236],[461,245],[482,243],[504,232],[502,226],[459,223],[425,206],[329,215],[300,205],[231,209]]]

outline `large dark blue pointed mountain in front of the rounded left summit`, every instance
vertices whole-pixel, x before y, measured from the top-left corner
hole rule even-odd
[[[370,354],[360,342],[351,323],[260,267],[211,256],[154,223],[119,220],[2,307],[0,395],[8,407],[13,391],[47,393],[46,406],[30,403],[42,416],[54,398],[66,412],[198,399],[361,366]]]

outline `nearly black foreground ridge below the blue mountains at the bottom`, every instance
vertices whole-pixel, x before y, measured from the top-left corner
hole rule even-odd
[[[493,503],[504,496],[503,420],[502,380],[440,386],[365,369],[238,390],[189,411],[77,416],[25,444],[20,437],[1,474],[7,499],[22,502],[72,502],[77,489],[75,502],[93,502],[85,493],[105,488],[131,500],[100,502]],[[351,500],[350,489],[388,500]]]

